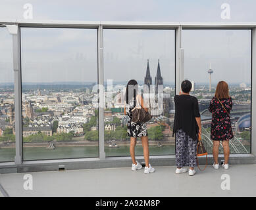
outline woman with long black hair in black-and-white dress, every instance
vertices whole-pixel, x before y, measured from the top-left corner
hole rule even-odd
[[[130,156],[132,158],[132,171],[142,169],[141,164],[136,161],[135,158],[135,146],[138,137],[141,138],[143,146],[143,155],[145,159],[144,173],[153,173],[155,169],[149,164],[149,139],[147,138],[147,125],[146,123],[134,123],[132,122],[132,110],[135,107],[141,107],[146,112],[147,108],[144,106],[143,98],[138,95],[138,83],[132,79],[128,81],[126,87],[126,107],[124,108],[124,115],[129,117],[127,124],[127,134],[130,137]]]

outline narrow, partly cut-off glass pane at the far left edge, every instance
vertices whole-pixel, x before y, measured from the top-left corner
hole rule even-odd
[[[7,28],[0,28],[0,162],[14,161],[13,41]]]

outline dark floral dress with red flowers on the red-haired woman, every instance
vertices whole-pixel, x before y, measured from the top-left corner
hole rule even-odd
[[[230,121],[230,111],[232,110],[232,98],[220,99],[226,111],[217,98],[211,100],[209,111],[213,114],[211,121],[211,139],[213,140],[229,140],[234,137]]]

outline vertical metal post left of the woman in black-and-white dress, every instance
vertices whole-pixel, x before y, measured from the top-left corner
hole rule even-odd
[[[98,81],[99,85],[104,87],[104,72],[103,72],[103,26],[99,25],[98,28]],[[100,101],[104,101],[104,93],[101,89],[99,91]],[[103,103],[99,104],[99,159],[104,160],[106,158],[104,147],[104,107]]]

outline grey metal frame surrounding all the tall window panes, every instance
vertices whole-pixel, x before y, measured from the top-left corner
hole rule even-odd
[[[56,165],[60,163],[74,163],[79,165],[80,163],[89,163],[89,167],[105,167],[102,163],[109,163],[113,165],[116,161],[126,161],[124,165],[129,162],[128,157],[115,157],[106,158],[104,148],[104,114],[103,108],[99,108],[99,158],[78,158],[78,159],[54,159],[43,161],[23,161],[22,159],[22,104],[21,104],[21,74],[20,74],[20,27],[30,28],[94,28],[97,29],[97,48],[98,48],[98,83],[104,85],[104,70],[103,70],[103,30],[104,29],[154,29],[154,30],[175,30],[175,85],[176,94],[179,93],[180,82],[184,79],[184,50],[182,49],[182,30],[251,30],[251,127],[256,127],[256,97],[253,97],[256,93],[256,85],[253,85],[253,81],[256,81],[256,22],[88,22],[88,21],[59,21],[59,20],[0,20],[0,26],[16,25],[18,26],[18,33],[13,35],[13,65],[14,65],[14,108],[15,108],[15,129],[16,129],[16,156],[14,162],[0,163],[1,167],[21,167],[22,169],[28,166],[34,166],[36,164],[49,164]],[[251,129],[251,154],[233,154],[230,157],[233,158],[255,158],[256,156],[256,129]],[[221,157],[221,156],[220,156]],[[138,157],[141,159],[143,157]],[[151,159],[155,161],[165,161],[169,159],[174,160],[174,156],[153,156]],[[255,159],[253,159],[255,162]],[[100,164],[101,163],[101,164]],[[238,160],[241,163],[241,160]],[[92,164],[92,165],[90,165]],[[122,164],[121,164],[122,165]],[[116,165],[115,165],[116,166]],[[45,166],[46,167],[46,166]],[[47,166],[49,167],[49,166]],[[79,168],[79,167],[77,167]],[[25,169],[26,170],[26,169]],[[43,168],[42,168],[43,170]]]

